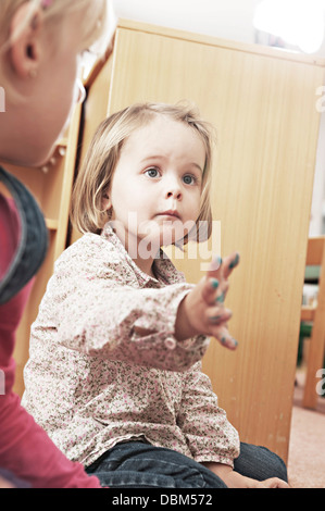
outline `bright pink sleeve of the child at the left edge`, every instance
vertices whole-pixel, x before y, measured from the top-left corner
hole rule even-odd
[[[54,446],[12,391],[15,331],[30,286],[0,307],[0,469],[35,488],[100,488],[97,477]]]

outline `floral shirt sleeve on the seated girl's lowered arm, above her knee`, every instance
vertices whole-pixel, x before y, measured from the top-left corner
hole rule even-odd
[[[193,459],[234,466],[239,456],[239,436],[217,406],[210,378],[202,373],[201,362],[184,373],[184,389],[177,417]]]

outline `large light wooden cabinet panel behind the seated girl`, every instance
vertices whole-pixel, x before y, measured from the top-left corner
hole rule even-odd
[[[214,250],[241,256],[226,299],[239,347],[212,339],[203,366],[241,439],[284,459],[323,83],[322,62],[304,57],[128,22],[117,28],[110,113],[190,100],[216,128]],[[203,275],[213,246],[201,258],[175,257],[188,281]]]

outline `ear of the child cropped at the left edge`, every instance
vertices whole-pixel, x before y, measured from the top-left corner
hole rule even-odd
[[[29,15],[30,4],[25,2],[16,10],[10,26],[11,65],[22,78],[37,76],[41,57],[40,33],[43,14],[41,10],[36,11],[26,24]]]

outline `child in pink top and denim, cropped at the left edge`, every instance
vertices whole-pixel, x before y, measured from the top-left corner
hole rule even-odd
[[[49,159],[72,108],[79,55],[105,20],[105,0],[0,1],[2,162],[38,166]],[[0,485],[100,487],[12,391],[15,331],[46,254],[47,229],[28,190],[2,167],[0,186]]]

